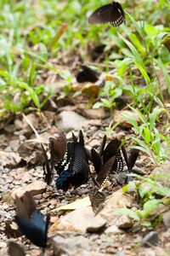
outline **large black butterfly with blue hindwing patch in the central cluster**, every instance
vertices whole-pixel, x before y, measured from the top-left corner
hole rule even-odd
[[[79,187],[88,180],[88,170],[83,164],[88,163],[88,156],[84,148],[82,131],[79,133],[79,143],[73,134],[73,142],[67,143],[66,157],[55,166],[59,177],[56,179],[57,189],[71,189]]]

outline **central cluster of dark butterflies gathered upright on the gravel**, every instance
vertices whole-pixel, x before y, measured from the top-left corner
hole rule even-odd
[[[84,140],[82,131],[79,131],[79,142],[72,133],[72,142],[66,141],[64,133],[59,133],[59,137],[49,137],[49,151],[50,162],[45,149],[42,146],[45,162],[43,163],[44,179],[46,183],[50,184],[54,177],[54,170],[56,170],[59,177],[56,179],[57,189],[68,190],[71,188],[77,189],[82,183],[87,183],[88,174],[92,177],[95,189],[91,190],[89,197],[92,203],[94,212],[97,211],[97,205],[99,198],[103,201],[105,196],[99,191],[108,175],[111,172],[120,173],[123,171],[124,160],[127,164],[127,173],[132,172],[135,161],[139,155],[139,149],[133,148],[127,155],[124,145],[121,146],[121,141],[117,138],[113,139],[105,146],[106,135],[99,147],[99,153],[92,148],[91,151],[84,147]],[[122,149],[122,154],[121,154]],[[88,161],[91,161],[94,165],[96,177],[90,172]],[[127,181],[129,177],[127,177]],[[98,189],[98,193],[97,190]]]

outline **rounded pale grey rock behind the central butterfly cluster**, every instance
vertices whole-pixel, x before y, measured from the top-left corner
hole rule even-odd
[[[63,111],[57,116],[55,125],[59,131],[67,133],[75,128],[82,127],[82,123],[86,120],[82,115],[74,111]]]

